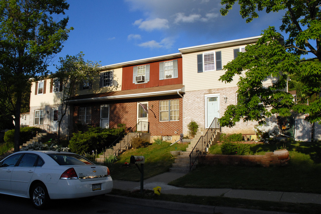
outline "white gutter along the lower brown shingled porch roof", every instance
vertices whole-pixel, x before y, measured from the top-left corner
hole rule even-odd
[[[179,92],[184,93],[185,87],[183,86],[183,88],[181,88],[181,89],[166,90],[166,91],[154,91],[154,92],[124,94],[124,95],[107,96],[107,97],[75,99],[75,100],[70,100],[69,102],[78,103],[78,102],[83,102],[83,101],[101,101],[101,100],[109,100],[109,99],[157,97],[157,96],[163,96],[163,95],[178,94]]]

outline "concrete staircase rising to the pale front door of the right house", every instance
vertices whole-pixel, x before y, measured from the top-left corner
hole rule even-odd
[[[169,168],[169,172],[176,172],[176,173],[189,173],[189,166],[190,166],[190,158],[189,154],[195,147],[197,141],[200,139],[201,136],[203,136],[206,133],[207,130],[197,132],[194,138],[192,139],[191,143],[186,148],[186,151],[181,151],[177,158],[175,159],[175,163],[172,164],[172,167]],[[213,133],[213,136],[210,140],[210,143],[205,151],[208,152],[208,148],[210,148],[211,145],[214,145],[219,141],[221,136],[220,132],[215,131]],[[196,161],[197,165],[197,161]],[[195,166],[195,165],[194,165]]]

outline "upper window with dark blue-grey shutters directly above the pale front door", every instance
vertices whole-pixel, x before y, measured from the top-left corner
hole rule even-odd
[[[197,73],[222,70],[221,51],[197,55]]]

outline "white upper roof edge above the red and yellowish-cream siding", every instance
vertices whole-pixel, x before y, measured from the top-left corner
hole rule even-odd
[[[156,61],[156,60],[171,59],[171,58],[176,58],[179,56],[182,56],[182,53],[168,54],[168,55],[163,55],[163,56],[155,56],[155,57],[150,57],[150,58],[145,58],[145,59],[138,59],[138,60],[133,60],[133,61],[128,61],[128,62],[123,62],[123,63],[110,64],[110,65],[101,66],[99,69],[100,70],[114,69],[117,67],[124,67],[124,66],[129,66],[129,65],[134,65],[134,64],[149,63],[149,62]]]

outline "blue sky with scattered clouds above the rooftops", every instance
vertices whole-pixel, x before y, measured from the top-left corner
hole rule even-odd
[[[55,57],[76,55],[102,66],[178,53],[178,48],[258,36],[279,29],[282,13],[259,13],[246,23],[235,5],[221,16],[220,0],[67,0],[74,27]],[[59,15],[58,19],[64,17]],[[286,39],[286,35],[282,33]],[[55,66],[49,70],[55,72]]]

